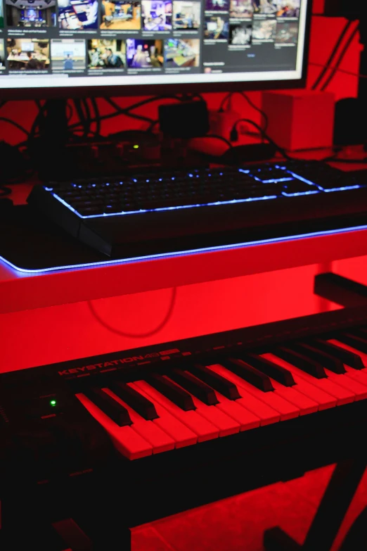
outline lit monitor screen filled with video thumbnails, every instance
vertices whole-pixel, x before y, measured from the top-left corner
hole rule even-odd
[[[0,0],[0,89],[286,87],[310,1]]]

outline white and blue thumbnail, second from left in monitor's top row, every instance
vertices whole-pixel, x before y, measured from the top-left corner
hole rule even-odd
[[[58,0],[58,24],[63,30],[98,28],[98,0]]]

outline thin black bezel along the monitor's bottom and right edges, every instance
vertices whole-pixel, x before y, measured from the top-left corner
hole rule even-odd
[[[296,80],[260,80],[240,82],[195,82],[188,84],[135,84],[133,86],[82,86],[82,87],[47,87],[47,88],[2,88],[0,99],[11,100],[46,100],[73,99],[89,97],[118,96],[165,96],[171,94],[205,94],[209,92],[262,91],[279,89],[305,88],[309,61],[309,39],[311,36],[312,0],[307,0],[306,23],[304,30],[304,51],[302,58],[302,76]],[[6,75],[4,75],[6,78]],[[87,78],[87,77],[86,77]],[[103,77],[101,77],[103,78]]]

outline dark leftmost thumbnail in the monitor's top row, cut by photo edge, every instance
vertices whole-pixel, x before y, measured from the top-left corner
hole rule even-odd
[[[6,0],[8,27],[56,27],[56,0]]]

